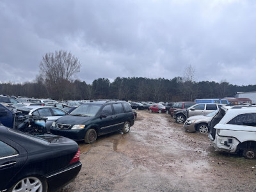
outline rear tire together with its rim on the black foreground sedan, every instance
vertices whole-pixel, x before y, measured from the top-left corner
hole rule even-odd
[[[48,186],[46,180],[39,177],[25,177],[14,184],[12,188],[8,190],[8,192],[22,191],[22,189],[27,189],[27,191],[35,191],[35,188],[37,188],[36,191],[47,192]]]

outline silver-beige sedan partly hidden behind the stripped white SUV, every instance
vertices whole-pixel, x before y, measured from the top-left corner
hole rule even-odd
[[[216,111],[212,111],[207,115],[195,115],[189,117],[183,125],[185,131],[188,132],[196,132],[199,131],[200,133],[207,134],[209,132],[208,123],[212,120],[213,116],[218,113],[220,109]]]

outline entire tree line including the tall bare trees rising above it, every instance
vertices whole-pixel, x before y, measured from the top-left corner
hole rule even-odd
[[[1,83],[0,94],[56,100],[120,99],[134,101],[192,101],[204,98],[234,97],[236,92],[252,92],[256,85],[237,86],[227,82],[195,81],[195,68],[185,68],[184,77],[152,79],[116,77],[95,79],[87,84],[72,77],[81,63],[67,51],[49,52],[42,57],[40,72],[33,82]]]

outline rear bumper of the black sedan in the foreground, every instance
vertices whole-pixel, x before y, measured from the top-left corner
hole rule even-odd
[[[76,179],[76,176],[80,172],[82,163],[70,164],[67,168],[59,170],[58,172],[52,173],[51,175],[46,175],[48,183],[48,191],[57,191],[63,188],[72,180]]]

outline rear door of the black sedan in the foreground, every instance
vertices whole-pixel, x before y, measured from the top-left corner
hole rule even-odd
[[[20,172],[28,159],[26,150],[16,142],[0,136],[0,191]]]

